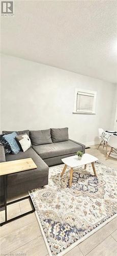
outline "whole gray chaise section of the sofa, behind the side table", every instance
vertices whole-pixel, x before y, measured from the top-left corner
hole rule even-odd
[[[36,169],[26,170],[21,173],[8,175],[8,196],[17,196],[25,193],[25,191],[38,188],[48,184],[49,167],[37,155],[33,148],[29,148],[26,152],[18,154],[7,154],[6,161],[13,161],[24,158],[32,158],[37,165]],[[2,191],[1,187],[1,191]]]

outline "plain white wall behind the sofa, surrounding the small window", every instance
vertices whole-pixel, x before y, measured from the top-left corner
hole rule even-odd
[[[95,115],[72,113],[75,88],[97,91]],[[71,139],[94,144],[98,127],[113,128],[114,93],[115,84],[3,55],[1,130],[68,126]]]

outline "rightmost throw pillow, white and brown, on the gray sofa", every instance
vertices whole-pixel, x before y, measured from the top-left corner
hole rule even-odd
[[[32,145],[30,137],[27,134],[18,135],[16,139],[20,143],[23,152],[28,150],[28,148],[30,148]]]

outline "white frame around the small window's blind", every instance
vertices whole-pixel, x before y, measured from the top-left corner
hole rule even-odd
[[[92,112],[85,112],[85,111],[76,111],[77,106],[77,93],[87,93],[87,94],[93,94],[94,95],[94,101],[93,101],[93,111]],[[97,92],[96,91],[90,91],[90,90],[83,90],[83,89],[75,89],[75,99],[74,99],[74,111],[73,114],[96,114],[96,98],[97,98]]]

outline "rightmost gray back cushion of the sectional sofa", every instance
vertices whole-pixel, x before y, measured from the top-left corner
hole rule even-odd
[[[61,141],[69,140],[68,127],[58,128],[58,129],[52,128],[51,139],[52,139],[52,142],[61,142]]]

